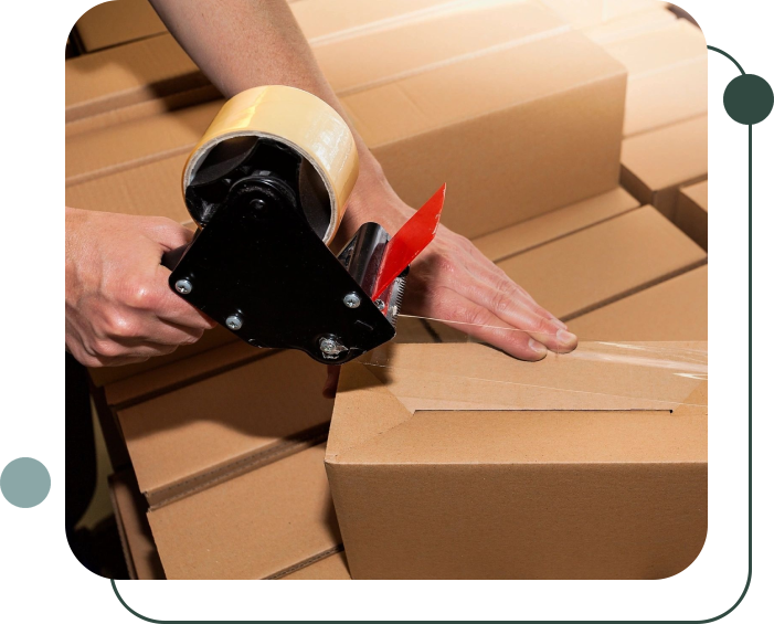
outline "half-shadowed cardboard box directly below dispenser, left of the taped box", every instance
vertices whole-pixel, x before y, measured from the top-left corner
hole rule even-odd
[[[326,379],[305,353],[277,352],[119,410],[140,490],[169,504],[325,440]]]

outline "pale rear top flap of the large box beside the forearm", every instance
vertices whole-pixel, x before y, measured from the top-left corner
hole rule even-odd
[[[411,22],[317,45],[315,56],[333,91],[344,96],[569,28],[537,4],[516,2],[479,11],[442,13],[432,22]]]

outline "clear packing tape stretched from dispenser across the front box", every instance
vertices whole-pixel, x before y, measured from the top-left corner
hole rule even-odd
[[[523,362],[466,334],[480,328],[403,316],[396,342],[357,361],[413,410],[707,414],[706,341],[583,342],[581,337],[571,353],[549,352],[541,362]]]

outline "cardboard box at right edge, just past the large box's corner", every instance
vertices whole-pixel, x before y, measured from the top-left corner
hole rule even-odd
[[[707,180],[707,115],[627,138],[622,163],[623,187],[674,221],[680,187]]]

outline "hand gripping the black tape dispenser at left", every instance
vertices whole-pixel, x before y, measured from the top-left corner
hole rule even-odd
[[[169,288],[161,256],[192,233],[161,218],[64,210],[64,345],[87,367],[146,361],[215,324]]]

